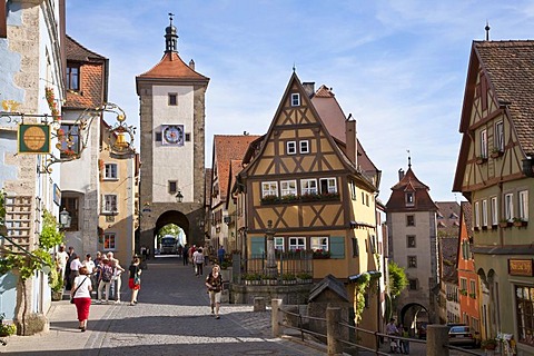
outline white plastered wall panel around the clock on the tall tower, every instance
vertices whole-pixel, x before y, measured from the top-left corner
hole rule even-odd
[[[178,95],[178,105],[168,105],[168,95]],[[161,132],[162,125],[184,125],[184,132],[190,140],[184,146],[164,146],[152,139],[152,200],[176,202],[175,195],[168,192],[168,181],[176,180],[184,195],[184,201],[194,200],[194,88],[192,86],[152,87],[154,131]]]

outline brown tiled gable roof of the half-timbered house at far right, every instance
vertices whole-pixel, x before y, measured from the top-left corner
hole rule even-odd
[[[534,41],[473,41],[459,123],[459,132],[464,135],[453,191],[462,190],[471,145],[467,131],[479,67],[497,105],[507,108],[521,148],[526,156],[534,156]]]

